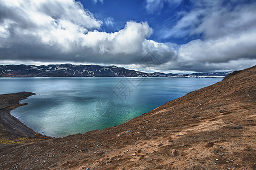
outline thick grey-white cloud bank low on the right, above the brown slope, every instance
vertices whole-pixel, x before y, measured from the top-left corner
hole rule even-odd
[[[179,47],[177,60],[166,67],[193,71],[244,69],[256,63],[255,37],[253,30],[216,40],[190,41]]]

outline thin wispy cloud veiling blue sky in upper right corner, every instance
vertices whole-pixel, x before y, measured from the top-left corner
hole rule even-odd
[[[215,39],[230,33],[239,33],[256,27],[256,3],[216,1],[192,1],[194,8],[189,12],[179,12],[175,25],[162,29],[164,38],[181,38],[203,35],[204,39]],[[223,5],[226,3],[225,5]]]

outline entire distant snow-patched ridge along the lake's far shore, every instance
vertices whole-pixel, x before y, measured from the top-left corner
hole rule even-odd
[[[143,73],[124,67],[99,65],[0,65],[0,77],[186,77],[186,78],[224,78],[232,72],[165,74]]]

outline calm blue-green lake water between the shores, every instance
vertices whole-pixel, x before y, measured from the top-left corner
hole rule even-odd
[[[51,137],[108,128],[219,78],[0,78],[0,94],[35,92],[11,114]]]

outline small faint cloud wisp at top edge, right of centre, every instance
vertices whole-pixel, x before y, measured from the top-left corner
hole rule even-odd
[[[161,12],[162,8],[167,6],[178,6],[182,0],[146,0],[145,8],[149,14],[153,14],[154,12]]]

